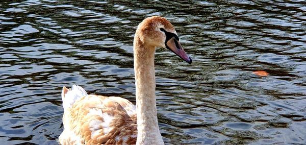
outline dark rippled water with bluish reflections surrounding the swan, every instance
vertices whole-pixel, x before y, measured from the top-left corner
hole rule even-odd
[[[134,32],[160,15],[193,59],[156,53],[167,144],[306,144],[305,11],[281,0],[2,1],[0,142],[57,144],[63,86],[135,103]]]

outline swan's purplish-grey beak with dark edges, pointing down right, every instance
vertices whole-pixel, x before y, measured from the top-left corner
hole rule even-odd
[[[177,56],[179,56],[181,59],[185,60],[189,64],[192,63],[192,59],[186,54],[180,42],[177,41],[174,37],[172,37],[166,42],[166,47],[168,50],[172,51],[174,54],[176,54]]]

